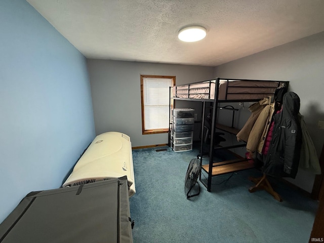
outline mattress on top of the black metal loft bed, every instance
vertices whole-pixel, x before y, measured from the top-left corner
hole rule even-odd
[[[215,99],[216,80],[173,87],[173,98]],[[280,82],[220,79],[218,100],[255,100],[272,96]]]

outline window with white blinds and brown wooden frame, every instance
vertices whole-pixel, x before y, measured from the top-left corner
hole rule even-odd
[[[175,83],[175,76],[141,75],[143,134],[169,131],[169,87]]]

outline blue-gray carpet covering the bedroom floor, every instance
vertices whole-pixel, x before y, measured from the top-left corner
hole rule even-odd
[[[248,177],[261,176],[255,169],[214,177],[212,192],[199,183],[200,194],[187,199],[184,179],[197,150],[163,148],[133,150],[135,243],[308,242],[317,201],[276,180],[281,203],[265,191],[250,193]]]

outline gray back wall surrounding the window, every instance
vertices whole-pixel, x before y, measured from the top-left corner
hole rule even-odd
[[[133,147],[168,143],[166,133],[142,135],[140,74],[176,76],[176,84],[181,85],[211,79],[214,72],[214,67],[206,66],[96,59],[88,60],[88,69],[96,134],[125,133]],[[201,103],[176,101],[176,107],[200,111]]]

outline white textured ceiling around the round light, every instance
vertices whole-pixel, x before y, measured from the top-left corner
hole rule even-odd
[[[217,66],[324,31],[322,0],[27,0],[87,58]],[[200,42],[178,31],[207,29]]]

